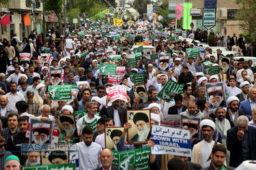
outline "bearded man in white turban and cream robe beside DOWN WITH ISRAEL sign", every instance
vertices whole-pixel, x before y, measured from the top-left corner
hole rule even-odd
[[[200,129],[203,135],[203,141],[200,141],[193,147],[191,162],[198,163],[201,167],[205,168],[211,163],[208,158],[215,143],[212,139],[212,135],[215,131],[215,124],[212,120],[204,119],[200,122]]]

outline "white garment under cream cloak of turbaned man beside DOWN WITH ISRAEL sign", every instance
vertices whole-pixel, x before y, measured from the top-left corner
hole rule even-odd
[[[210,166],[211,160],[208,160],[208,158],[209,158],[209,156],[212,152],[213,146],[214,146],[214,140],[212,140],[211,143],[208,143],[205,140],[202,141],[201,150],[203,152],[201,152],[201,154],[202,154],[202,156],[201,156],[201,166],[203,168]]]

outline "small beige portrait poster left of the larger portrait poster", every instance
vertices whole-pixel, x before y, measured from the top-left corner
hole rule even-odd
[[[117,141],[124,131],[123,127],[105,128],[105,146],[109,150],[117,150]]]

